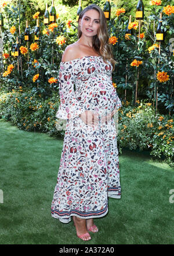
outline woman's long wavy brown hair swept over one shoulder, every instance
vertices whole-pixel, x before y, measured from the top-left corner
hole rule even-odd
[[[99,19],[100,19],[100,27],[97,31],[97,35],[93,36],[92,45],[94,51],[96,51],[99,55],[103,56],[103,61],[110,61],[113,66],[113,71],[115,69],[115,64],[117,61],[113,59],[113,52],[111,49],[111,45],[108,44],[108,30],[107,30],[107,20],[104,16],[103,10],[98,6],[92,3],[91,5],[86,6],[84,10],[82,10],[81,14],[78,17],[79,19],[82,19],[85,12],[87,10],[95,9],[97,12],[99,12]],[[78,24],[78,37],[80,38],[82,35],[81,26]]]

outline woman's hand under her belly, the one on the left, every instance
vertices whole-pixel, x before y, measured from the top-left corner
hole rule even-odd
[[[96,126],[99,124],[99,114],[92,111],[85,111],[79,115],[82,121],[89,126]]]

